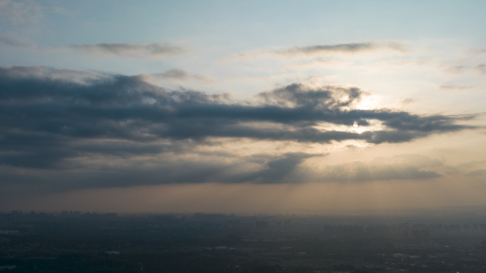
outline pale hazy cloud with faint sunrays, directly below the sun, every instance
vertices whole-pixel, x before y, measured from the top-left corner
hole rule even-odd
[[[443,166],[445,160],[425,155],[395,155],[370,161],[354,161],[330,166],[320,177],[323,182],[367,182],[394,179],[431,179],[441,177],[428,167]]]

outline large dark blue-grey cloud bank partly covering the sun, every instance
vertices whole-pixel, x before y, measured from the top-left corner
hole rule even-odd
[[[474,128],[456,122],[475,117],[360,110],[354,107],[364,92],[357,87],[308,87],[303,83],[262,92],[257,104],[227,104],[225,94],[168,90],[139,76],[95,77],[86,72],[41,67],[4,67],[0,69],[0,87],[4,113],[9,113],[2,116],[4,124],[32,133],[80,138],[234,137],[396,143],[431,133]],[[355,121],[368,126],[371,120],[382,122],[387,130],[356,133],[313,127],[323,122],[350,126]],[[266,129],[249,125],[251,122],[281,127]]]

